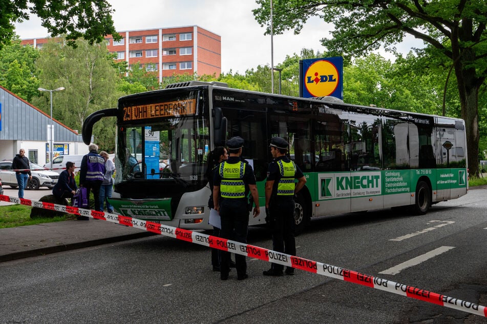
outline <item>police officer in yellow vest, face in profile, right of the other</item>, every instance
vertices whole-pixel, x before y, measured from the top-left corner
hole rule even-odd
[[[281,137],[273,137],[270,142],[270,153],[274,159],[267,169],[265,208],[272,233],[272,249],[295,256],[293,197],[304,187],[306,178],[294,161],[286,156],[288,146]],[[298,183],[294,179],[298,179]],[[282,276],[283,269],[282,264],[272,263],[263,274]],[[287,267],[286,274],[294,274],[294,268]]]

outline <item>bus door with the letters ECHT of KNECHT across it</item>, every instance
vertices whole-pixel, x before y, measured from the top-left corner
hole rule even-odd
[[[350,112],[350,148],[353,164],[347,183],[351,191],[351,211],[367,211],[384,206],[382,195],[382,119],[361,111]]]

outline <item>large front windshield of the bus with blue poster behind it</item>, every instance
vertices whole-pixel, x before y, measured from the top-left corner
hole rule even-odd
[[[208,126],[207,114],[195,108],[187,116],[159,116],[145,119],[141,125],[119,127],[115,166],[121,172],[117,172],[115,184],[145,179],[204,186]]]

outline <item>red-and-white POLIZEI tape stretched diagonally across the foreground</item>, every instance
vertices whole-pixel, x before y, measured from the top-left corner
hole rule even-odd
[[[321,274],[338,280],[343,280],[357,285],[366,286],[373,289],[383,290],[422,300],[436,304],[443,307],[456,309],[459,311],[468,312],[471,314],[487,317],[487,307],[477,305],[464,300],[441,295],[424,289],[411,287],[404,284],[399,284],[390,280],[381,279],[372,275],[360,273],[353,270],[348,270],[341,267],[336,267],[326,263],[307,260],[300,257],[291,256],[289,254],[269,250],[259,246],[240,243],[232,240],[222,239],[212,235],[206,235],[193,230],[182,229],[174,226],[167,226],[156,222],[145,221],[129,216],[122,216],[118,214],[110,214],[105,212],[97,212],[93,210],[81,209],[73,206],[58,205],[49,202],[41,202],[23,198],[10,197],[0,195],[0,201],[28,205],[32,207],[43,208],[51,211],[69,213],[80,216],[88,216],[94,219],[106,220],[109,222],[131,226],[142,230],[147,230],[159,235],[168,236],[178,240],[196,243],[211,248],[220,249],[232,253],[241,254],[249,258],[255,258],[266,262],[282,264],[284,266],[293,267],[296,269]]]

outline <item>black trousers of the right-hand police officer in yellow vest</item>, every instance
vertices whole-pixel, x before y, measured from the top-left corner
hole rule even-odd
[[[270,229],[272,233],[272,249],[296,255],[296,242],[294,240],[294,200],[292,197],[276,198],[269,204]],[[271,268],[282,271],[282,264],[272,263]]]

